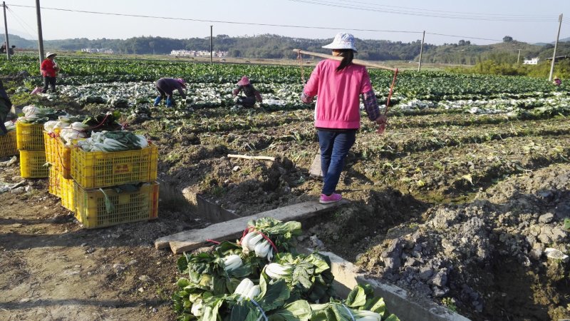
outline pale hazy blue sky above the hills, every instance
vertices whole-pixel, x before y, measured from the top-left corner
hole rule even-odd
[[[557,19],[561,13],[566,16],[560,38],[570,36],[569,0],[40,0],[40,3],[44,7],[41,11],[43,38],[48,40],[126,39],[133,36],[205,37],[209,36],[210,25],[214,26],[214,36],[279,34],[326,39],[338,32],[334,29],[221,22],[232,21],[346,29],[361,39],[408,42],[421,39],[421,31],[425,30],[425,41],[430,44],[455,43],[460,39],[470,40],[473,44],[492,44],[497,42],[494,40],[500,40],[506,35],[519,41],[535,43],[556,39]],[[36,39],[35,5],[35,0],[6,1],[6,6],[10,9],[7,13],[9,33]],[[88,14],[48,8],[160,16],[178,20]]]

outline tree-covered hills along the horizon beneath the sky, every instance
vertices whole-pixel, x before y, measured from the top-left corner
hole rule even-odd
[[[229,56],[244,58],[294,58],[291,49],[304,49],[328,53],[321,46],[332,39],[300,39],[285,36],[264,34],[259,36],[214,37],[215,51],[228,51]],[[18,49],[37,49],[37,41],[24,39],[21,36],[9,35],[10,45]],[[570,55],[570,38],[561,39],[557,55]],[[205,50],[209,51],[209,37],[190,39],[171,39],[142,36],[129,39],[61,39],[44,41],[46,50],[81,51],[83,48],[113,49],[117,54],[170,54],[172,50]],[[420,54],[420,41],[405,43],[402,41],[385,41],[357,39],[358,58],[386,61],[417,60]],[[470,41],[460,40],[455,44],[440,46],[425,44],[424,61],[430,63],[462,63],[475,64],[478,61],[493,59],[498,62],[514,63],[519,58],[552,56],[553,44],[527,44],[520,41],[504,41],[498,44],[475,45]]]

